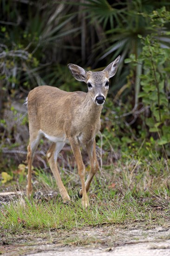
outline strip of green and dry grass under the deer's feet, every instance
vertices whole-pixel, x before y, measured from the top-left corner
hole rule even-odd
[[[63,204],[52,175],[42,169],[33,172],[37,182],[35,198],[15,198],[4,202],[0,211],[1,232],[82,228],[108,224],[144,222],[163,225],[169,220],[170,163],[161,160],[126,160],[104,166],[92,181],[89,193],[90,207],[83,209],[77,193],[80,181],[76,169],[73,173],[61,171],[62,179],[72,202]],[[38,182],[39,181],[39,182]],[[67,181],[67,182],[65,182]],[[35,185],[34,185],[35,187]],[[54,197],[51,194],[54,191]]]

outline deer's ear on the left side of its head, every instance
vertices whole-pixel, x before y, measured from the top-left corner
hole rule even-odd
[[[86,80],[86,71],[83,67],[79,67],[75,64],[68,64],[68,68],[72,74],[72,76],[78,80],[85,82]]]

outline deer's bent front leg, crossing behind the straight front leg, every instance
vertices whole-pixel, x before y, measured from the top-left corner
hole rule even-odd
[[[87,180],[85,182],[85,189],[86,191],[89,190],[90,188],[90,184],[92,182],[92,178],[94,177],[94,175],[96,174],[97,170],[98,170],[98,161],[97,161],[97,158],[96,158],[96,141],[95,139],[92,140],[92,141],[89,141],[87,144],[86,144],[86,149],[87,149],[87,153],[88,153],[88,156],[90,158],[90,163],[91,163],[91,170],[90,170],[90,173],[87,177]],[[82,196],[82,189],[80,189],[79,191],[79,196],[81,197]]]

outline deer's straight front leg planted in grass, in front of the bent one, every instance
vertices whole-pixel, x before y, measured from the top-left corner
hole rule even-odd
[[[78,165],[78,174],[81,179],[81,188],[82,188],[81,203],[82,203],[83,207],[87,208],[87,206],[89,205],[89,201],[88,201],[87,192],[85,189],[85,165],[82,160],[81,151],[80,151],[80,147],[78,144],[78,139],[70,138],[69,140],[70,140],[70,144],[72,147],[72,152],[74,154],[74,157],[75,157],[77,165]]]

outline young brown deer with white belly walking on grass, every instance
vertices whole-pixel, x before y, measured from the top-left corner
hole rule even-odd
[[[78,166],[81,188],[78,192],[83,208],[89,206],[87,192],[93,176],[98,171],[95,137],[101,128],[100,115],[109,90],[109,79],[116,74],[120,56],[102,71],[85,71],[76,64],[68,64],[72,76],[87,84],[88,92],[66,92],[42,85],[34,88],[26,98],[29,121],[29,145],[27,147],[27,196],[33,193],[32,163],[34,153],[43,136],[52,142],[46,153],[49,167],[55,177],[64,203],[71,201],[63,185],[57,158],[65,143],[70,143]],[[85,181],[85,165],[80,147],[85,146],[91,169]]]

